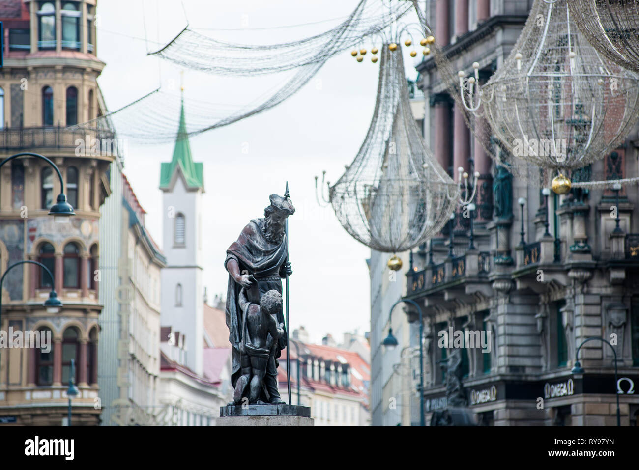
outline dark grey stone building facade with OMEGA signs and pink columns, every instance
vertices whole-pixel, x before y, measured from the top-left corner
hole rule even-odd
[[[438,0],[426,14],[454,70],[468,72],[477,61],[487,80],[514,46],[532,2],[470,4]],[[426,421],[447,406],[447,375],[458,374],[458,398],[482,425],[616,425],[617,397],[621,425],[636,425],[637,186],[619,192],[618,220],[612,190],[545,196],[496,166],[472,139],[432,57],[418,70],[426,142],[451,175],[460,166],[468,171],[471,157],[481,174],[472,228],[459,209],[440,237],[413,254],[406,273],[406,298],[424,312]],[[636,135],[572,178],[636,176]],[[409,317],[416,319],[412,309]],[[477,332],[483,343],[449,342],[456,331]],[[613,344],[617,383],[609,345],[590,340],[577,357],[589,337]],[[571,372],[577,360],[583,374]]]

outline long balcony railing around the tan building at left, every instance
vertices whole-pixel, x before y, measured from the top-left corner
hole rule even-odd
[[[28,150],[38,148],[56,148],[56,149],[77,149],[79,148],[79,140],[82,140],[82,148],[86,153],[91,151],[95,141],[98,139],[100,148],[104,140],[107,141],[110,148],[117,147],[117,144],[111,145],[115,138],[114,133],[107,129],[74,129],[68,130],[63,127],[23,127],[23,128],[4,128],[0,130],[0,150]],[[104,139],[104,140],[103,140]],[[115,155],[115,151],[111,151],[111,155]]]

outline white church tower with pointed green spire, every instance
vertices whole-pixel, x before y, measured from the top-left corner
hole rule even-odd
[[[180,110],[180,128],[173,159],[162,163],[160,189],[164,215],[163,251],[167,266],[162,269],[162,326],[185,335],[186,365],[196,374],[203,373],[204,305],[202,301],[202,163],[194,163],[184,117]]]

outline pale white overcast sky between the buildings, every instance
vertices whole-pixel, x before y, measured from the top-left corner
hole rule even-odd
[[[183,3],[191,27],[235,29],[246,27],[247,22],[250,28],[261,28],[341,18],[355,8],[357,1]],[[146,56],[146,52],[159,49],[157,43],[164,45],[185,26],[180,1],[102,0],[97,13],[98,57],[107,64],[98,82],[109,109],[136,100],[160,83],[163,89],[179,93],[181,69],[155,56]],[[268,44],[310,36],[335,23],[206,33],[231,42]],[[145,25],[148,42],[144,40]],[[371,43],[363,47],[370,49]],[[419,57],[415,61],[408,59],[406,66],[410,68]],[[250,219],[263,216],[270,194],[283,195],[288,179],[291,201],[296,207],[295,215],[289,218],[289,257],[293,265],[289,281],[291,331],[304,325],[314,342],[326,333],[339,341],[346,331],[369,331],[366,259],[370,250],[344,231],[332,208],[319,208],[313,177],[321,176],[325,169],[327,179],[336,181],[344,172],[344,165],[357,154],[373,114],[378,65],[371,63],[370,54],[364,62],[357,63],[349,51],[344,51],[275,109],[190,139],[194,161],[204,163],[203,206],[208,210],[203,215],[203,264],[204,285],[210,299],[214,294],[226,296],[226,249]],[[412,72],[414,77],[416,72]],[[244,105],[270,89],[273,80],[227,79],[185,70],[184,84],[185,98]],[[236,102],[238,97],[244,101]],[[188,108],[186,114],[188,123]],[[219,111],[212,110],[212,114],[219,115]],[[178,117],[176,113],[176,130]],[[245,142],[248,154],[242,153]],[[160,163],[169,162],[172,154],[173,144],[128,142],[125,156],[125,174],[148,212],[146,226],[160,246]]]

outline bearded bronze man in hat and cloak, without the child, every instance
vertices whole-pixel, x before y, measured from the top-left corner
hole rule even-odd
[[[240,345],[242,343],[242,307],[239,304],[242,287],[258,284],[259,297],[275,289],[282,293],[282,278],[291,275],[288,262],[288,240],[286,239],[286,218],[295,213],[288,197],[270,195],[270,206],[264,209],[264,218],[251,220],[244,227],[238,239],[226,250],[224,268],[229,273],[226,297],[226,325],[229,327],[229,341],[233,345],[231,384],[242,375]],[[254,279],[254,281],[252,280]],[[253,289],[252,289],[253,290]],[[259,299],[254,299],[259,303]],[[282,308],[279,309],[277,323],[284,323]],[[288,326],[288,325],[287,325]],[[277,358],[286,347],[286,335],[277,340],[274,351],[268,358],[266,375],[260,400],[270,404],[284,404],[277,391]]]

